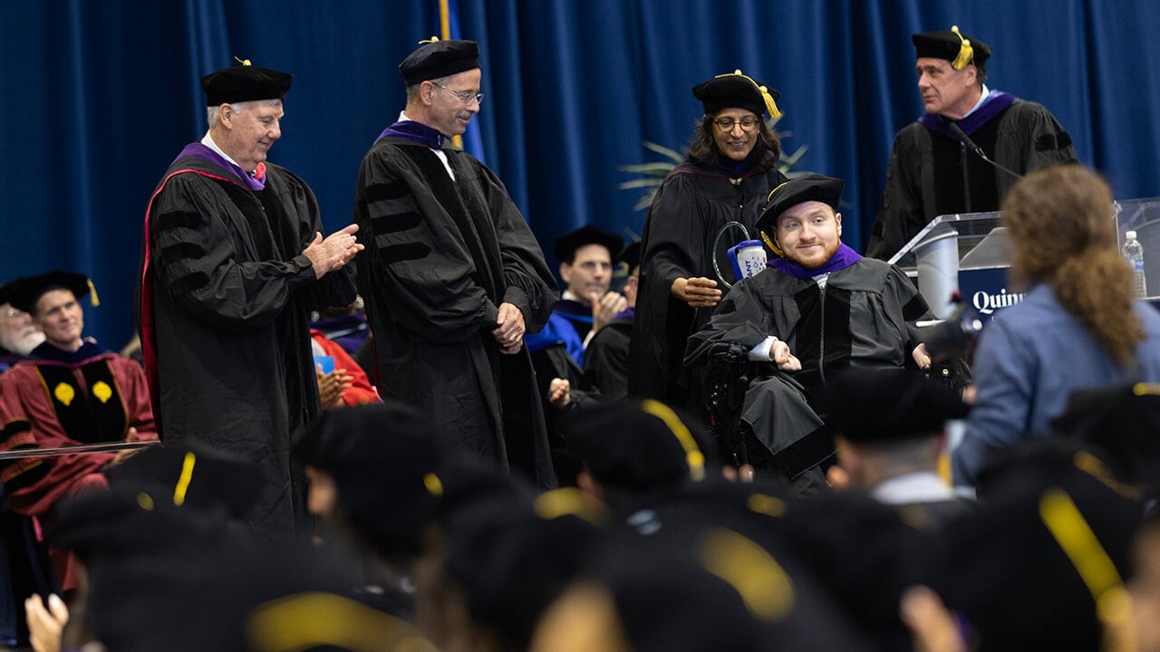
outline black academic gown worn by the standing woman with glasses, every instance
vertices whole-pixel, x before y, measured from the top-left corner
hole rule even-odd
[[[640,245],[640,290],[629,354],[629,393],[699,407],[699,372],[682,364],[686,340],[699,331],[711,309],[691,309],[669,295],[677,278],[717,280],[713,260],[733,282],[725,251],[745,238],[728,229],[716,251],[713,240],[730,222],[756,238],[754,224],[769,191],[785,181],[777,169],[752,169],[738,176],[686,161],[653,198]],[[718,281],[718,288],[725,288]]]

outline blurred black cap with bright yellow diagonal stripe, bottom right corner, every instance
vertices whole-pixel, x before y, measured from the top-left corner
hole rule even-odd
[[[1034,471],[1025,471],[1034,472]],[[1081,471],[998,497],[948,523],[928,586],[972,650],[1102,650],[1143,506]]]

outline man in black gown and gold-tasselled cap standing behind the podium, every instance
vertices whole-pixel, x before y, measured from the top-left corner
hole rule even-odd
[[[911,41],[926,114],[894,137],[867,245],[883,260],[935,217],[999,210],[1023,174],[1076,161],[1072,137],[1043,104],[987,87],[991,46],[957,27]]]

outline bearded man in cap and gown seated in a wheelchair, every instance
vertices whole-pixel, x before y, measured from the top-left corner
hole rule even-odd
[[[914,325],[926,300],[902,270],[841,242],[841,180],[818,174],[775,188],[756,224],[775,258],[730,290],[686,349],[686,364],[709,369],[708,407],[734,461],[803,494],[828,487],[826,415],[841,406],[824,404],[827,377],[930,365]],[[742,367],[747,387],[734,384]]]

